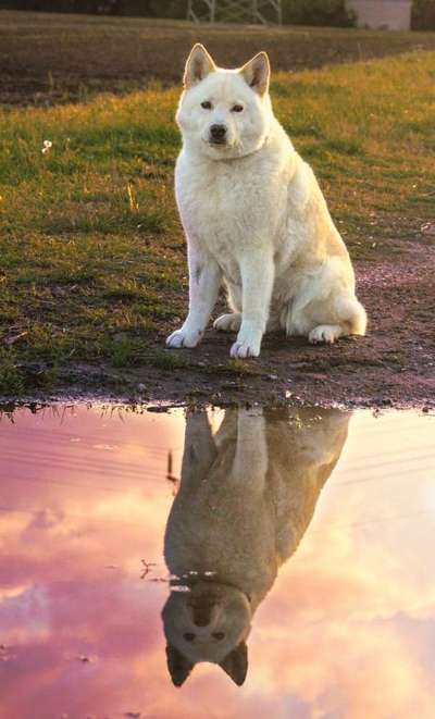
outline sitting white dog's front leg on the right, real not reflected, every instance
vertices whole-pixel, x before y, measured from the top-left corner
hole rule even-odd
[[[232,357],[258,357],[271,303],[274,264],[268,252],[252,252],[240,262],[241,325]]]

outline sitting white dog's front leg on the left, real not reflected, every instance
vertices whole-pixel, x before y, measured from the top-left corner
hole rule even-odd
[[[216,303],[222,271],[210,256],[189,247],[189,312],[181,330],[166,339],[167,347],[196,347]]]

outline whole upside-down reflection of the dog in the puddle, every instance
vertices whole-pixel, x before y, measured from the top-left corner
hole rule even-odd
[[[162,612],[176,686],[200,661],[244,683],[252,617],[311,521],[349,417],[228,409],[214,435],[206,412],[187,418],[164,543],[167,568],[179,578]]]

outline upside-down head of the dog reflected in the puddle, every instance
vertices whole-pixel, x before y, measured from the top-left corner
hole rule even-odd
[[[162,611],[167,668],[181,686],[196,664],[217,664],[240,685],[248,670],[246,639],[250,630],[249,598],[239,590],[198,581],[173,591]]]

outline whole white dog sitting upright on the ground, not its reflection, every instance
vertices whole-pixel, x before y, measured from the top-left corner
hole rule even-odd
[[[311,168],[273,114],[270,64],[260,52],[216,67],[201,45],[186,63],[176,120],[183,150],[176,199],[187,237],[189,312],[169,347],[195,347],[222,281],[238,331],[232,357],[258,357],[265,330],[332,343],[365,333],[355,275]]]

